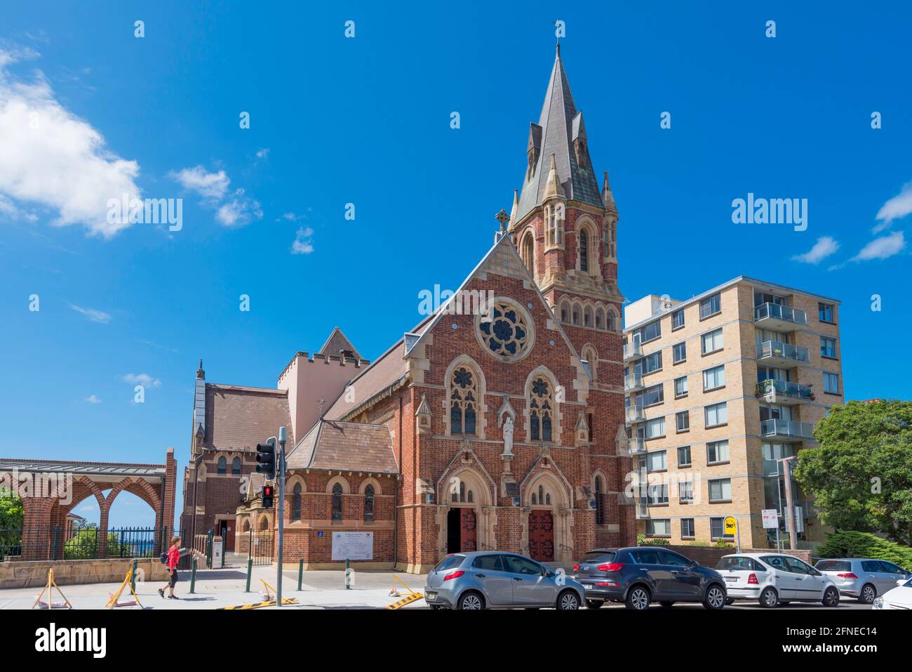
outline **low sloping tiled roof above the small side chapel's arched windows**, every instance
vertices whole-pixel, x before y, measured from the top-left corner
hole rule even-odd
[[[321,420],[286,459],[288,469],[399,473],[387,425]]]

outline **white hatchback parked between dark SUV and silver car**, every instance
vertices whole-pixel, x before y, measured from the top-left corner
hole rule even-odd
[[[716,572],[725,579],[729,604],[736,599],[757,600],[765,607],[790,602],[839,604],[833,579],[793,555],[733,553],[720,559]]]

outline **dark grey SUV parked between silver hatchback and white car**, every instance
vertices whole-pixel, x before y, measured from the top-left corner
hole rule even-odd
[[[725,606],[725,581],[680,553],[660,546],[589,551],[574,565],[574,578],[586,590],[586,606],[623,602],[641,611],[658,602],[700,602],[707,609]]]

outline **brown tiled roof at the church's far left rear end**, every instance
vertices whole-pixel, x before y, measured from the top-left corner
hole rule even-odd
[[[288,444],[295,437],[285,390],[206,383],[207,448],[254,449],[285,426]]]

